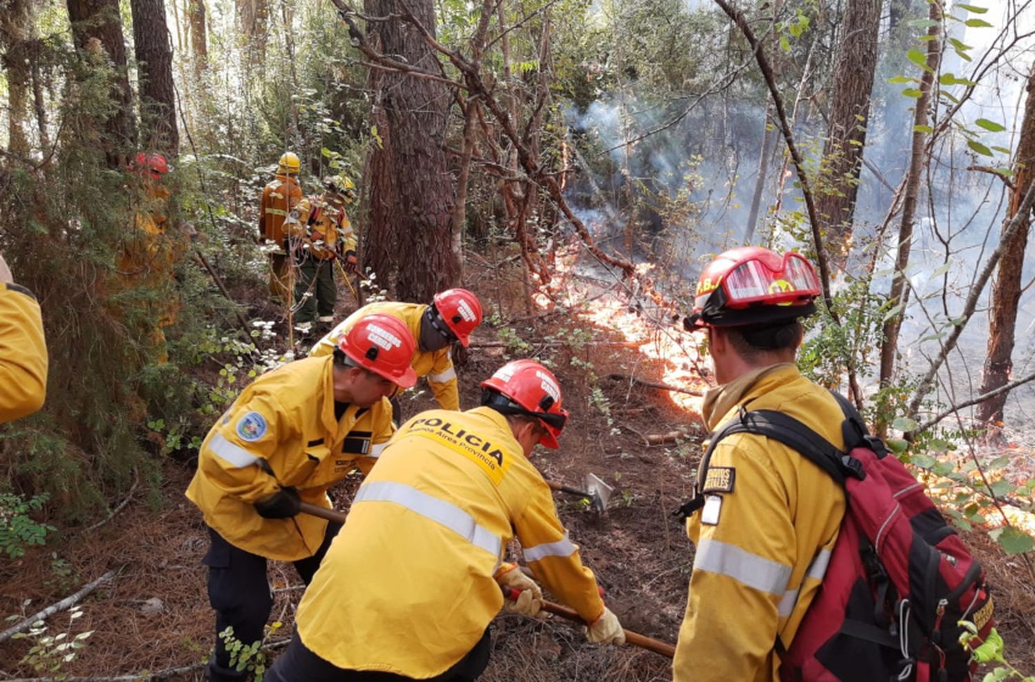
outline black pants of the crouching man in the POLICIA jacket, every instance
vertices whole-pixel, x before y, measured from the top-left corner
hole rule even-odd
[[[348,646],[347,643],[343,645]],[[486,627],[478,644],[474,645],[466,656],[442,675],[427,678],[422,682],[473,682],[489,665],[491,651],[492,637]],[[306,649],[296,632],[288,645],[288,650],[266,673],[264,682],[394,682],[412,679],[414,678],[394,673],[347,671],[337,668]]]

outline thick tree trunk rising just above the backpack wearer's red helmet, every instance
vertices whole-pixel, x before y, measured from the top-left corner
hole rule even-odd
[[[869,96],[877,69],[881,5],[881,0],[848,0],[840,26],[822,181],[817,187],[816,202],[831,257],[837,263],[845,262],[852,237]]]

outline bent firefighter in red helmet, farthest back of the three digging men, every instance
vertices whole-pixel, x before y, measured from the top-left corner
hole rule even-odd
[[[309,355],[327,355],[333,352],[337,339],[365,315],[379,313],[398,318],[413,332],[417,350],[411,365],[417,377],[427,377],[435,399],[443,410],[460,410],[460,391],[456,370],[453,368],[450,345],[460,343],[467,348],[471,332],[481,324],[481,302],[466,289],[449,289],[435,295],[431,305],[382,301],[359,308],[330,333],[321,338]],[[398,403],[392,401],[396,423],[400,422]]]

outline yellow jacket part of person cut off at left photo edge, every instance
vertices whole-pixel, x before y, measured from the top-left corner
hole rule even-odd
[[[28,289],[0,285],[0,423],[32,414],[47,397],[47,343]]]

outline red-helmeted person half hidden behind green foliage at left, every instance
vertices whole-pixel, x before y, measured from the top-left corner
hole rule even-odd
[[[179,299],[174,291],[174,273],[180,255],[185,250],[185,235],[167,230],[166,210],[169,188],[162,178],[169,164],[162,154],[140,152],[129,167],[143,178],[145,201],[137,207],[134,230],[122,240],[115,259],[117,281],[113,294],[139,292],[146,306],[142,323],[150,328],[150,345],[155,361],[168,360],[165,328],[179,316]],[[116,313],[120,318],[126,310]]]

